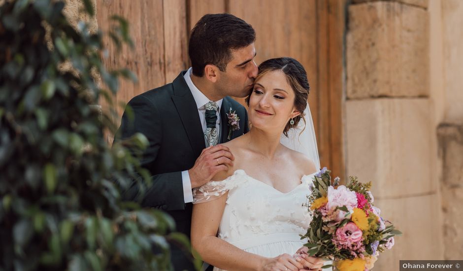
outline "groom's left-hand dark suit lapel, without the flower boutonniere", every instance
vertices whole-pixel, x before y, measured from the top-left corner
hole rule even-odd
[[[175,104],[180,119],[182,120],[183,128],[188,135],[191,147],[196,156],[199,156],[202,149],[205,148],[204,133],[199,120],[198,108],[188,88],[185,79],[183,78],[185,71],[182,71],[177,78],[172,82],[174,95],[172,101]]]

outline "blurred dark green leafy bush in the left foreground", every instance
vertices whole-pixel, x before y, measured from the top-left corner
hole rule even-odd
[[[121,201],[134,177],[148,185],[136,157],[147,139],[110,147],[103,136],[117,127],[95,78],[116,93],[120,76],[134,76],[103,67],[102,33],[72,28],[64,5],[0,7],[0,270],[170,270],[168,241],[188,240],[169,234],[165,213]],[[113,20],[112,40],[130,44],[127,22]]]

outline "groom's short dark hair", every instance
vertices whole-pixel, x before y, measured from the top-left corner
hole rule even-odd
[[[208,64],[225,71],[232,60],[232,50],[256,40],[252,26],[232,14],[206,14],[193,28],[188,46],[193,74],[204,75]]]

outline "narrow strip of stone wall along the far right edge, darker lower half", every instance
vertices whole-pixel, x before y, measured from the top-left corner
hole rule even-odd
[[[443,91],[437,127],[445,259],[463,259],[463,1],[441,0]]]

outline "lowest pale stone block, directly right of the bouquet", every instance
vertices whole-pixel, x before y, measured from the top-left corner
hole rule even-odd
[[[391,250],[379,256],[373,270],[399,270],[399,260],[443,260],[440,199],[437,194],[375,200],[374,205],[402,235],[395,237]]]

